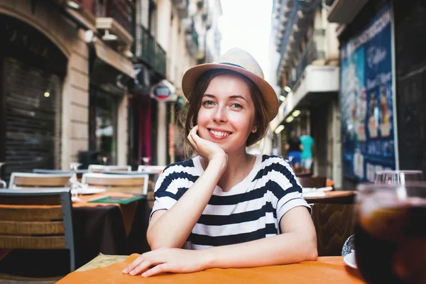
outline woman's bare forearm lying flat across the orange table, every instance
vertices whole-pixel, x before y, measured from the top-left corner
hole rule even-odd
[[[202,256],[204,269],[273,266],[316,259],[316,236],[297,232],[204,249]]]

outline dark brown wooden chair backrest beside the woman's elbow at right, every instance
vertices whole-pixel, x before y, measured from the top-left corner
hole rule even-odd
[[[318,256],[341,256],[346,239],[354,234],[354,204],[312,204]]]

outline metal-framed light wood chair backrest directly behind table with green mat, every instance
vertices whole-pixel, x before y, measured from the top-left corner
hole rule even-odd
[[[84,173],[82,183],[104,187],[107,191],[147,195],[148,175],[114,175],[108,173]]]

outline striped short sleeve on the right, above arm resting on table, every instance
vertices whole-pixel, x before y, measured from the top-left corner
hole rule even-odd
[[[297,181],[293,169],[285,160],[280,159],[280,162],[275,164],[275,171],[280,175],[275,175],[278,180],[275,180],[274,195],[277,197],[276,214],[278,224],[286,212],[295,207],[307,207],[310,211],[310,206],[302,197],[302,186]]]

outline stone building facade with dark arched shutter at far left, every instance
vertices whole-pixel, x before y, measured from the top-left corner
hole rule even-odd
[[[6,180],[13,171],[69,169],[87,151],[127,163],[126,82],[134,71],[123,16],[133,4],[125,13],[117,5],[123,1],[0,1]]]

